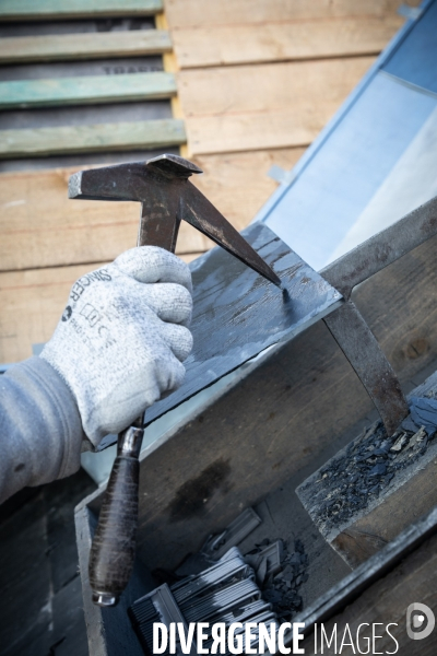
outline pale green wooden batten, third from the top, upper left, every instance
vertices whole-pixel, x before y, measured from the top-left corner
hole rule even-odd
[[[0,109],[169,98],[173,73],[125,73],[0,82]]]

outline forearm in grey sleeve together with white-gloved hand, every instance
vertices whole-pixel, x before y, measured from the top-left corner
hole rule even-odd
[[[189,268],[154,246],[73,284],[40,356],[0,376],[0,503],[73,473],[83,437],[98,446],[181,384],[191,307]]]

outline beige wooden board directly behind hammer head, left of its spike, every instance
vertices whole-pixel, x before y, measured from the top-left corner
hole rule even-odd
[[[140,203],[69,200],[74,171],[0,176],[0,270],[111,260],[135,245]],[[200,253],[208,244],[182,222],[178,254]]]

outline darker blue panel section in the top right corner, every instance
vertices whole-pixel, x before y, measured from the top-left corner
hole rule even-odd
[[[437,93],[437,2],[417,20],[414,30],[399,44],[382,70]]]

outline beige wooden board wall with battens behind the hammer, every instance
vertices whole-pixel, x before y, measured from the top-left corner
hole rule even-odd
[[[38,4],[50,2],[27,4],[23,15],[32,19]],[[105,2],[69,0],[67,4],[81,4],[82,11],[86,5],[90,15],[94,4],[101,11]],[[133,32],[129,38],[121,33],[70,42],[47,37],[42,52],[43,42],[35,44],[33,37],[22,37],[20,47],[11,38],[0,39],[3,66],[158,54],[169,74],[161,78],[161,85],[166,84],[162,97],[172,98],[173,112],[173,119],[162,121],[154,137],[140,124],[135,124],[133,141],[130,126],[130,142],[126,133],[114,136],[114,126],[101,130],[97,138],[87,133],[81,145],[87,155],[83,165],[44,168],[38,164],[36,169],[26,164],[0,174],[0,362],[29,356],[32,344],[49,339],[73,281],[135,243],[135,203],[67,199],[70,173],[93,165],[90,155],[94,152],[114,151],[114,143],[105,142],[108,134],[113,141],[125,139],[117,147],[125,150],[134,150],[135,143],[138,148],[138,140],[144,148],[163,152],[166,143],[180,144],[181,154],[204,171],[196,184],[241,230],[275,189],[276,183],[267,175],[271,165],[293,167],[401,27],[400,4],[399,0],[165,0],[161,11],[160,0],[128,0],[125,8],[132,5],[140,14],[147,10],[155,16],[157,30],[151,31],[146,43],[144,33]],[[13,10],[8,10],[11,7],[10,0],[2,3],[0,20],[16,20]],[[54,11],[56,17],[60,10]],[[42,20],[42,15],[36,17]],[[149,80],[144,79],[140,97],[141,93],[153,95]],[[35,86],[23,91],[4,84],[0,84],[3,110],[8,102],[11,106],[12,92],[19,94],[19,106],[35,104],[35,93],[40,93],[38,85],[35,92]],[[58,104],[71,103],[62,95],[59,99],[61,92],[57,93]],[[98,102],[109,102],[102,101],[99,93]],[[45,98],[46,104],[54,103],[52,95]],[[29,153],[73,152],[78,131],[72,137],[67,130],[66,137],[57,129],[3,131],[0,157],[27,157],[28,162]],[[185,226],[178,253],[190,260],[210,246]]]

